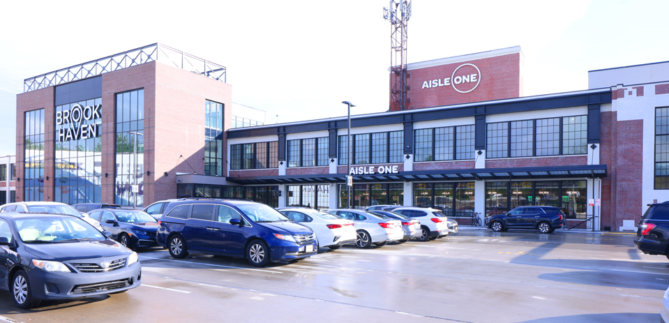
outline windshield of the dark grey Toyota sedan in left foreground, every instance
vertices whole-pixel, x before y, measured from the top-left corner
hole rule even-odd
[[[25,243],[58,243],[105,240],[96,228],[80,218],[36,217],[15,220],[21,241]]]

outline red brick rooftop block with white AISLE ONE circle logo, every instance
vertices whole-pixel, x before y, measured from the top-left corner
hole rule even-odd
[[[523,96],[520,46],[407,65],[408,109]]]

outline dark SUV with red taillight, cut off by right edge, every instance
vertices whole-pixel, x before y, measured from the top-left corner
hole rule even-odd
[[[649,255],[669,258],[669,201],[648,204],[637,225],[634,246]]]

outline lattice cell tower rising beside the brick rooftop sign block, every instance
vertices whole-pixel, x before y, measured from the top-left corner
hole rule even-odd
[[[390,0],[383,8],[383,17],[391,25],[390,110],[405,110],[407,103],[407,22],[411,17],[411,1]]]

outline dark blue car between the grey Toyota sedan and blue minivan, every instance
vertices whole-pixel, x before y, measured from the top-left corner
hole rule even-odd
[[[158,221],[142,210],[98,209],[90,217],[110,232],[110,238],[130,249],[158,246]]]

